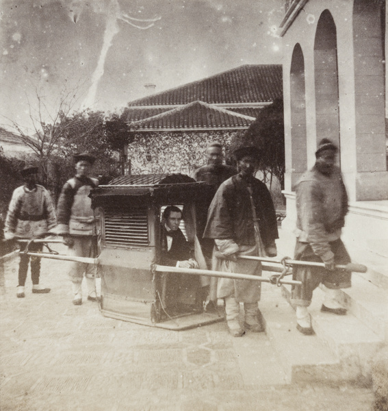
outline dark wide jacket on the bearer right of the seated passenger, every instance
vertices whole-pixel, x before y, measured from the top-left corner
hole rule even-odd
[[[264,245],[270,247],[279,238],[274,204],[266,184],[255,177],[244,179],[240,174],[233,175],[218,188],[209,208],[203,234],[205,238],[230,238],[237,245],[255,245],[248,183],[253,190],[252,197]]]

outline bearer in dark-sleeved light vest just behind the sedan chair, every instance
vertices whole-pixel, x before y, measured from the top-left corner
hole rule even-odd
[[[94,157],[88,153],[74,155],[75,177],[69,179],[62,188],[57,206],[57,234],[63,236],[71,256],[96,256],[94,236],[95,216],[91,207],[90,190],[99,185],[99,181],[90,178],[90,170]],[[73,262],[70,269],[70,279],[73,283],[73,304],[82,303],[81,284],[83,275],[86,277],[88,300],[97,301],[99,290],[96,291],[96,270],[93,264]]]

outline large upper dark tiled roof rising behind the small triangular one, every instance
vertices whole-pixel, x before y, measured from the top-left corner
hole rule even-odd
[[[209,104],[263,103],[283,98],[282,66],[252,64],[131,101],[128,107],[177,105],[193,101]]]

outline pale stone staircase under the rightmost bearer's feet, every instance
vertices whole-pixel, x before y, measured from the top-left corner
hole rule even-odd
[[[281,230],[280,237],[279,257],[292,257],[293,234]],[[350,247],[348,251],[352,261],[365,264],[368,271],[353,273],[352,288],[342,290],[348,308],[346,316],[322,313],[324,286],[314,291],[309,307],[313,336],[296,330],[295,311],[290,304],[291,286],[262,286],[262,321],[289,383],[352,382],[370,386],[372,382],[373,360],[388,344],[388,258]]]

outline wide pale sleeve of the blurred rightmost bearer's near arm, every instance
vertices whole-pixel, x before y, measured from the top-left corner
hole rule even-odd
[[[324,201],[318,182],[310,179],[300,183],[296,193],[296,203],[300,229],[307,234],[307,242],[313,252],[323,261],[331,260],[334,254],[324,225]]]

